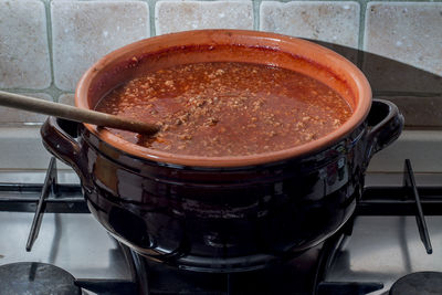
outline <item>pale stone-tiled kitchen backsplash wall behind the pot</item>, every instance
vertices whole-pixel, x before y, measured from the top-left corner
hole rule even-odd
[[[375,96],[400,106],[408,128],[442,126],[442,0],[0,0],[0,89],[73,104],[76,82],[104,54],[144,38],[209,28],[315,40],[357,64]],[[32,143],[39,140],[33,125],[44,118],[0,108],[1,151],[43,152]],[[2,146],[20,131],[22,141]],[[4,157],[0,165],[8,168]]]

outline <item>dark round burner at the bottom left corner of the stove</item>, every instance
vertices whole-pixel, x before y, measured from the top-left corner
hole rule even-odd
[[[75,278],[66,271],[40,262],[20,262],[0,266],[1,294],[81,295]]]

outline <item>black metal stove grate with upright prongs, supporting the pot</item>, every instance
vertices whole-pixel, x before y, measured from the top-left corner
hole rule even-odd
[[[324,278],[332,265],[336,253],[345,240],[351,235],[352,222],[361,215],[415,215],[422,242],[427,252],[432,252],[430,236],[424,220],[427,215],[442,215],[442,186],[418,188],[414,183],[414,176],[411,162],[406,160],[402,187],[369,187],[364,190],[355,215],[343,226],[343,229],[327,240],[320,249],[319,257],[316,261],[316,274],[314,275],[314,295],[328,294],[352,294],[362,295],[381,289],[379,282],[327,282]],[[33,225],[30,231],[28,249],[31,250],[35,241],[41,220],[44,212],[48,213],[90,213],[82,194],[80,185],[57,183],[55,159],[52,158],[45,182],[34,183],[0,183],[0,211],[9,212],[35,212]],[[131,270],[133,280],[76,280],[75,284],[97,294],[157,294],[155,286],[148,286],[147,276],[150,273],[144,259],[130,250],[122,246]],[[145,276],[139,276],[139,273]],[[138,273],[138,274],[137,274]],[[236,276],[240,281],[236,280]],[[249,274],[231,276],[223,274],[221,280],[222,292],[188,293],[188,294],[232,294],[234,286],[244,282]],[[251,282],[253,282],[253,277]],[[233,283],[232,283],[233,282]],[[225,283],[225,284],[224,284]],[[231,287],[233,286],[233,287]],[[257,291],[257,289],[256,289]],[[158,294],[167,294],[159,291]],[[172,294],[172,293],[171,293]],[[245,294],[245,293],[244,293]]]

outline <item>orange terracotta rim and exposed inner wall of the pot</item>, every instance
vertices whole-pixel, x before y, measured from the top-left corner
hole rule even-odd
[[[246,156],[196,156],[149,149],[85,124],[107,144],[140,158],[198,167],[240,167],[273,162],[320,150],[348,135],[367,116],[370,86],[349,61],[317,44],[274,33],[239,30],[203,30],[146,39],[104,56],[78,83],[75,104],[94,109],[109,91],[147,72],[201,62],[248,62],[293,70],[324,83],[351,106],[354,113],[338,129],[306,144]],[[250,82],[253,83],[253,82]]]

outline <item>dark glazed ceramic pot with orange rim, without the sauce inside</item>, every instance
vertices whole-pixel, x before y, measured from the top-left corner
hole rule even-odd
[[[354,115],[333,134],[248,157],[187,157],[124,141],[93,125],[50,117],[45,147],[82,180],[92,213],[140,254],[197,271],[263,267],[324,241],[351,215],[371,156],[400,134],[403,117],[371,104],[364,75],[338,54],[294,38],[193,31],[147,39],[103,57],[76,91],[94,108],[115,85],[148,71],[203,61],[296,70],[338,91]]]

